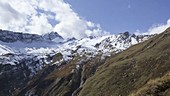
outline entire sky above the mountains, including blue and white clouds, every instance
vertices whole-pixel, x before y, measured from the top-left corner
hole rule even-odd
[[[0,29],[81,39],[170,26],[170,0],[0,0]]]

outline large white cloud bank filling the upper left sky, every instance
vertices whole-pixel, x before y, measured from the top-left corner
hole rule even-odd
[[[99,24],[82,19],[63,0],[1,0],[0,28],[44,34],[56,31],[64,38],[103,35]],[[55,25],[49,22],[57,22]]]

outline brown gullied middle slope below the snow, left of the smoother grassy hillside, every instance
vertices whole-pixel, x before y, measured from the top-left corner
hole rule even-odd
[[[71,96],[77,94],[76,91],[79,91],[79,87],[94,74],[97,67],[104,61],[105,59],[101,59],[100,55],[94,58],[76,56],[62,66],[54,65],[55,70],[48,75],[44,75],[43,72],[39,73],[15,95]]]

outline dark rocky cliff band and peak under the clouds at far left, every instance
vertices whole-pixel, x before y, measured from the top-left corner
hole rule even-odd
[[[2,42],[37,42],[37,41],[52,41],[55,38],[63,39],[57,32],[44,34],[43,36],[37,34],[19,33],[7,30],[0,30],[0,41]]]

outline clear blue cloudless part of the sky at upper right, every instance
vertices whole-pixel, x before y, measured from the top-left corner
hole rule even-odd
[[[146,32],[170,18],[170,0],[65,0],[83,18],[106,31]]]

